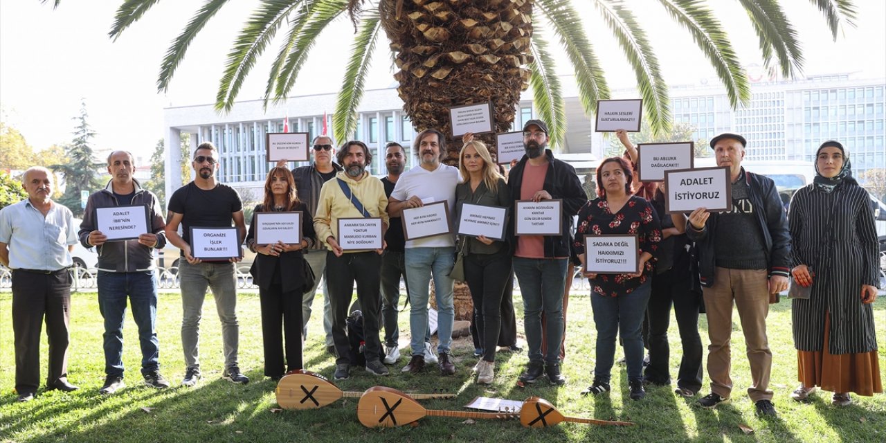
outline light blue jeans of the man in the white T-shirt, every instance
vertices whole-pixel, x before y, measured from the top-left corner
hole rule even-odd
[[[412,354],[424,353],[424,334],[428,329],[428,298],[431,276],[437,299],[437,352],[449,353],[452,347],[452,327],[455,323],[453,280],[449,271],[455,262],[452,247],[407,248],[406,279],[409,282],[409,346]],[[562,291],[562,289],[561,289]],[[419,332],[421,331],[421,332]]]

